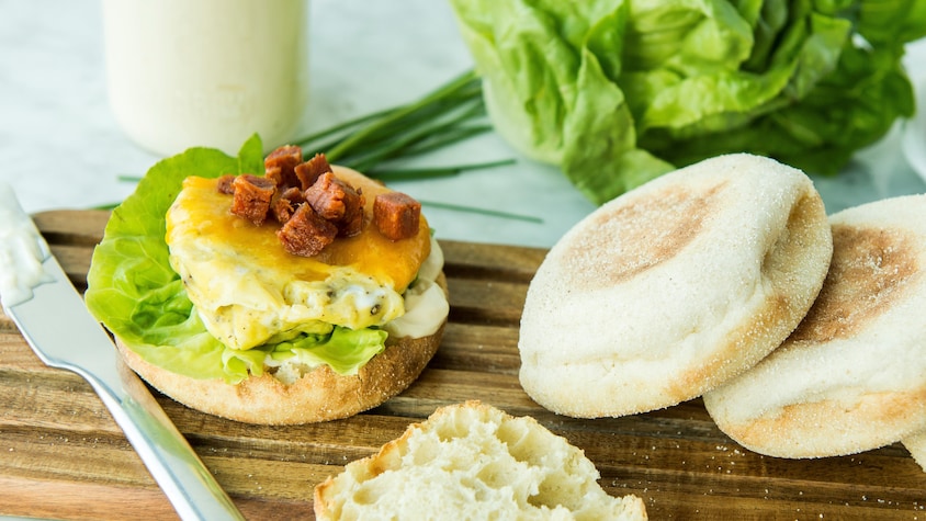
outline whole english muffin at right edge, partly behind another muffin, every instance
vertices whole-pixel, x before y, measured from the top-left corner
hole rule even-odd
[[[833,262],[806,318],[704,404],[721,430],[761,454],[833,456],[910,439],[926,462],[926,195],[829,222]]]

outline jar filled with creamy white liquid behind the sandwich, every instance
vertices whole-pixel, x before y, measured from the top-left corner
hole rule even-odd
[[[110,104],[128,136],[170,156],[236,155],[298,128],[308,90],[308,0],[103,0]]]

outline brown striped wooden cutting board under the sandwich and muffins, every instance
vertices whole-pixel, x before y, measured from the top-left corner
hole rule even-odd
[[[86,285],[106,212],[35,216],[75,284]],[[530,415],[585,450],[612,495],[642,497],[651,519],[926,519],[926,473],[900,444],[791,461],[754,454],[720,432],[700,400],[618,419],[577,420],[534,404],[518,383],[518,321],[540,249],[444,241],[450,324],[408,390],[353,418],[256,427],[159,396],[249,519],[312,519],[313,487],[398,437],[437,407],[481,399]],[[49,369],[0,316],[0,514],[176,519],[89,385]]]

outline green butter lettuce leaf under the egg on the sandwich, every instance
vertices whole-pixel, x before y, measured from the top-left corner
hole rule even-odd
[[[135,192],[113,211],[103,240],[93,251],[87,307],[147,362],[194,378],[234,384],[249,374],[262,374],[268,355],[355,373],[384,349],[385,331],[335,327],[328,335],[305,335],[246,351],[228,349],[206,331],[170,268],[165,215],[183,179],[261,171],[263,155],[257,136],[245,143],[238,157],[191,148],[151,167]]]

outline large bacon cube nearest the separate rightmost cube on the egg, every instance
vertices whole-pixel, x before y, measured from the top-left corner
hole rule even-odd
[[[335,223],[342,237],[352,237],[363,228],[363,193],[325,172],[305,191],[305,200],[321,217]]]

